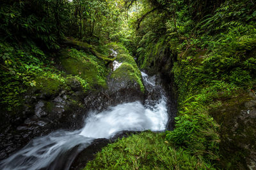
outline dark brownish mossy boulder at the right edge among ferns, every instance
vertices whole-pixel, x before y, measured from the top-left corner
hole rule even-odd
[[[256,96],[240,91],[211,111],[220,128],[220,165],[225,169],[256,169]]]

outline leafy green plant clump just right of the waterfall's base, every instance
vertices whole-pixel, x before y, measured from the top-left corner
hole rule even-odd
[[[166,132],[166,139],[200,159],[218,160],[218,125],[204,112],[191,113],[192,107],[186,109],[189,110],[187,114],[180,112],[180,116],[175,118],[175,129]]]

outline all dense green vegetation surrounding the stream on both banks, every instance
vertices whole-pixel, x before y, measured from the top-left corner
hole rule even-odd
[[[255,18],[251,0],[4,0],[0,111],[13,113],[29,88],[51,93],[68,88],[72,77],[85,91],[104,88],[111,46],[123,51],[118,61],[126,63],[119,69],[132,71],[142,91],[131,55],[140,69],[173,77],[175,129],[120,139],[85,169],[244,169],[246,151],[223,152],[212,110],[256,90]],[[66,46],[75,39],[83,50]]]

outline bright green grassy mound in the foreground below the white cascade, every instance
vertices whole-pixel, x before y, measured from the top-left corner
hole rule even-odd
[[[165,141],[164,133],[141,132],[109,144],[84,169],[212,169],[212,166],[173,148]]]

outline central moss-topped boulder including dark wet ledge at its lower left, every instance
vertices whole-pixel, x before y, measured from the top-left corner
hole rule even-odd
[[[90,105],[92,110],[100,111],[124,102],[143,102],[144,86],[136,62],[124,46],[115,43],[107,46],[117,52],[116,62],[120,67],[115,70],[109,69],[109,74],[106,76],[107,88],[89,92],[84,98],[84,104]]]

